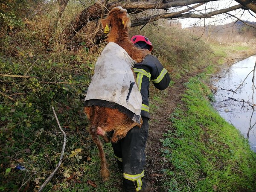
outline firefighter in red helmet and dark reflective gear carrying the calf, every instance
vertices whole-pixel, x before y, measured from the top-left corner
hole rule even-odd
[[[153,46],[148,38],[135,35],[131,41],[136,47],[151,51]],[[170,77],[167,70],[154,55],[147,55],[141,63],[134,65],[137,85],[142,95],[141,128],[132,128],[125,138],[118,143],[112,143],[113,151],[120,170],[123,172],[122,192],[148,192],[150,185],[143,180],[145,166],[145,145],[148,138],[149,115],[149,83],[164,90],[169,86]]]

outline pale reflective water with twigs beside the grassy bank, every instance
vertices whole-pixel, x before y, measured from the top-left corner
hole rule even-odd
[[[239,129],[245,138],[248,138],[251,149],[256,152],[256,111],[252,108],[252,97],[256,104],[256,89],[254,88],[253,95],[253,72],[250,73],[255,62],[256,55],[253,55],[233,64],[229,70],[220,75],[224,75],[223,77],[212,79],[212,84],[218,88],[215,93],[214,108],[227,122]],[[244,81],[249,73],[250,75]],[[233,93],[232,91],[235,90],[236,93]]]

